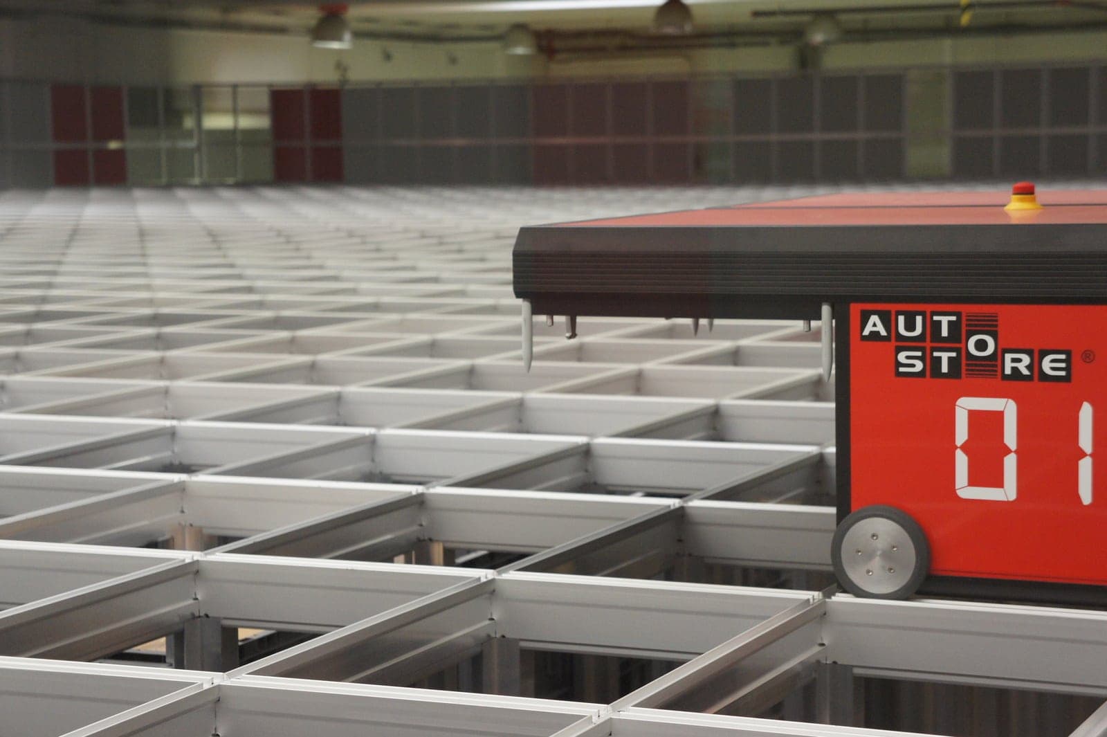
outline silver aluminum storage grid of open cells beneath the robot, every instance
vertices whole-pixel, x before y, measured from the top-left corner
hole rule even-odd
[[[1107,613],[831,595],[817,326],[523,372],[518,226],[814,191],[0,194],[0,735],[1107,734]]]

